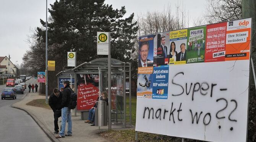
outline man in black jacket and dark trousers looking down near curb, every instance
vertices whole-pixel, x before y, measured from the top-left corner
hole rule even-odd
[[[53,89],[53,93],[49,97],[49,106],[53,110],[54,117],[54,132],[53,134],[58,134],[59,126],[58,126],[58,118],[62,116],[62,93],[58,90],[58,88]],[[61,127],[60,127],[61,129]]]

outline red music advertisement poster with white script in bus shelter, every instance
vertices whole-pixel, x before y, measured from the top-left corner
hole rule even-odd
[[[99,96],[99,74],[76,74],[77,110],[89,110]]]

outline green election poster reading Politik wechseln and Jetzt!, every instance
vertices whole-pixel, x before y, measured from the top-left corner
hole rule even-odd
[[[186,63],[204,62],[206,26],[188,28],[187,43],[191,45],[186,50]]]

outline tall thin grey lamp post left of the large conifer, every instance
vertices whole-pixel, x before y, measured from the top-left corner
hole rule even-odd
[[[45,25],[45,102],[48,104],[48,61],[47,61],[47,0],[46,0],[46,25]]]

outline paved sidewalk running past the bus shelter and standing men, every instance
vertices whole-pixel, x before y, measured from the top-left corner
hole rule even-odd
[[[100,129],[98,126],[90,126],[90,124],[84,123],[84,120],[80,120],[80,115],[76,117],[72,116],[73,136],[56,139],[55,136],[58,136],[58,134],[52,134],[54,131],[52,110],[26,105],[26,103],[34,99],[45,99],[45,96],[41,96],[39,93],[28,93],[26,97],[24,97],[21,101],[12,104],[11,107],[22,109],[31,115],[31,117],[53,142],[110,142],[110,140],[97,134],[100,131],[107,130],[107,126],[100,127]],[[59,118],[59,120],[61,120],[61,118]],[[58,122],[58,125],[60,127],[61,122]],[[67,126],[68,125],[66,123],[65,132],[67,131]]]

